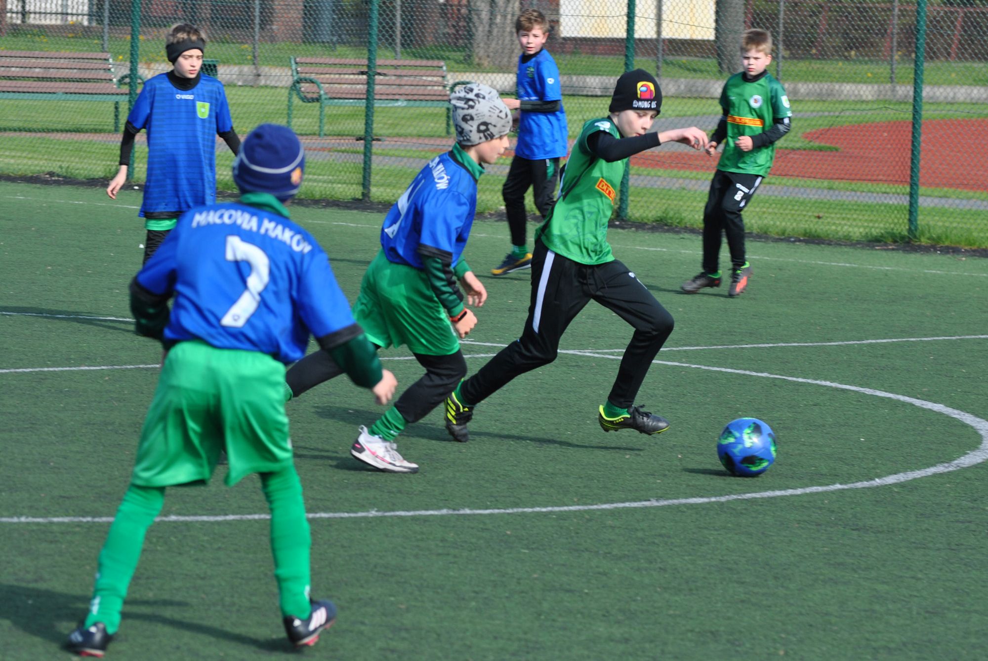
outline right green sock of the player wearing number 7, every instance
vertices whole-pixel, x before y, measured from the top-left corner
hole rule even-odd
[[[284,617],[304,619],[309,604],[309,536],[302,484],[293,466],[262,473],[261,488],[271,508],[271,552],[275,557],[280,606]]]

